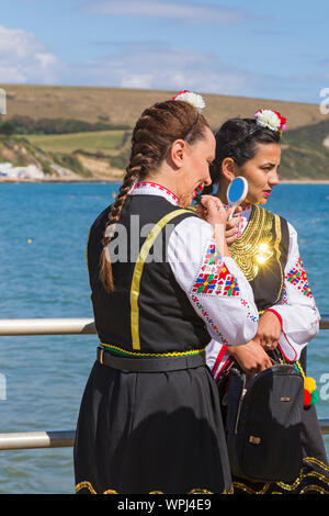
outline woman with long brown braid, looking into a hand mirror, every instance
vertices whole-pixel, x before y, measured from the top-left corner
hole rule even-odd
[[[144,111],[118,195],[90,229],[100,346],[76,433],[77,493],[231,487],[205,347],[224,333],[249,341],[258,314],[220,201],[204,197],[206,220],[189,207],[215,157],[202,102],[183,92]]]

